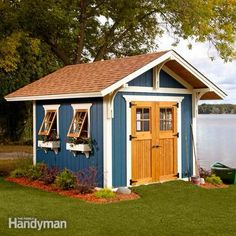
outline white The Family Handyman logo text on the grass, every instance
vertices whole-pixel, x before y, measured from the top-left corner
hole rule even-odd
[[[8,227],[10,229],[66,229],[65,220],[38,220],[33,217],[15,217],[8,218]]]

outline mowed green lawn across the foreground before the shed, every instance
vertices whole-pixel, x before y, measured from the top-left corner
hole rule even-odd
[[[99,205],[0,179],[0,235],[235,235],[236,186],[182,181],[135,188],[142,198]],[[66,220],[60,230],[8,229],[8,217]]]

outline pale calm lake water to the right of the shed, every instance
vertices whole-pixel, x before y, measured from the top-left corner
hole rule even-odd
[[[236,115],[199,115],[197,155],[200,166],[216,161],[236,168]]]

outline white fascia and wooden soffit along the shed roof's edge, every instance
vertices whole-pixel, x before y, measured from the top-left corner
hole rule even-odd
[[[191,85],[193,88],[193,92],[196,91],[197,89],[207,89],[205,90],[205,93],[203,93],[201,100],[224,99],[227,96],[227,94],[223,90],[221,90],[218,86],[216,86],[209,79],[207,79],[196,68],[194,68],[190,63],[188,63],[185,59],[183,59],[178,53],[176,53],[174,50],[171,50],[99,92],[24,96],[24,97],[6,96],[5,99],[7,101],[35,101],[35,100],[104,97],[112,93],[113,91],[122,88],[122,86],[127,84],[129,81],[133,80],[134,78],[143,74],[144,72],[152,69],[153,67],[160,65],[161,63],[164,63],[165,67],[169,68],[171,71],[177,74],[177,76],[181,77],[189,85]]]

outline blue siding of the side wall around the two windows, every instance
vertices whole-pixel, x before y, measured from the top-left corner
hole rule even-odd
[[[86,158],[84,154],[73,156],[73,153],[66,150],[67,132],[73,117],[71,104],[92,103],[90,110],[90,131],[91,137],[95,140],[94,154]],[[71,99],[40,101],[36,103],[36,131],[38,132],[44,117],[43,105],[60,104],[59,108],[59,135],[61,148],[56,155],[53,151],[45,153],[41,148],[37,148],[37,162],[45,162],[50,167],[57,166],[60,169],[68,168],[71,171],[79,171],[93,166],[97,169],[98,186],[103,186],[103,100],[93,99]]]

